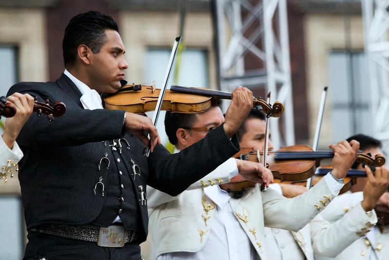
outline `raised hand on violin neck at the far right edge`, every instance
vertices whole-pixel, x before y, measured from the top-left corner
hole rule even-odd
[[[389,186],[389,171],[384,167],[377,167],[374,174],[371,172],[370,167],[365,167],[368,181],[363,188],[363,200],[362,208],[365,211],[372,210],[381,197],[388,190]],[[383,198],[382,200],[385,200]]]

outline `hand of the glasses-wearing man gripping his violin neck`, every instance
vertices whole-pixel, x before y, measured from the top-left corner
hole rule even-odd
[[[329,146],[333,149],[333,170],[331,171],[336,179],[345,178],[347,172],[351,168],[356,159],[359,150],[359,142],[356,140],[341,141],[338,144],[331,144]]]

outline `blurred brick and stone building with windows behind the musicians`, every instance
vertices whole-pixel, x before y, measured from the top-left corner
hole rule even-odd
[[[364,38],[360,0],[0,0],[0,96],[19,81],[59,78],[64,70],[64,29],[74,15],[90,10],[118,22],[130,64],[126,80],[131,83],[155,80],[160,86],[171,44],[182,34],[185,48],[170,82],[222,90],[247,82],[262,98],[272,84],[277,93],[272,101],[282,98],[288,111],[275,123],[277,129],[272,128],[279,132],[278,145],[312,146],[324,86],[329,86],[329,94],[320,148],[356,133],[377,133],[374,109],[385,89],[373,88],[372,106],[370,81],[375,77],[369,78],[369,71],[378,72],[371,70],[372,56],[364,52],[370,38]],[[260,59],[268,53],[269,28],[271,73],[266,59]],[[281,39],[282,33],[286,39]],[[228,49],[235,35],[240,36]],[[386,40],[387,33],[378,38]],[[234,56],[233,51],[242,55]],[[385,83],[385,77],[377,79],[377,85]],[[159,132],[164,133],[163,120]],[[0,226],[0,234],[7,238],[0,243],[0,259],[21,259],[26,239],[17,178],[0,183],[0,194],[0,219],[7,223]]]

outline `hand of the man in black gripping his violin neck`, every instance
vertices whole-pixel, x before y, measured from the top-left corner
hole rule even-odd
[[[232,101],[225,113],[223,124],[224,132],[229,138],[239,129],[252,108],[253,92],[245,87],[238,87],[232,92]]]

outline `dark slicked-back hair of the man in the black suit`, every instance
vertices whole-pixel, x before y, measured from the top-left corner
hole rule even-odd
[[[90,11],[74,16],[65,29],[62,41],[65,67],[73,66],[77,57],[77,48],[87,45],[93,53],[98,53],[106,43],[105,30],[118,31],[117,24],[111,16]]]

